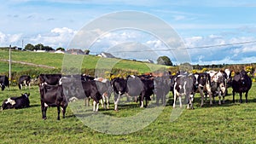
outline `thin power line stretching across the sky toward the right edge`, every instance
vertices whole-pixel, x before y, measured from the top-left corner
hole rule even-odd
[[[241,45],[241,44],[248,44],[248,43],[256,43],[256,41],[247,41],[247,42],[240,42],[240,43],[226,43],[226,44],[217,44],[217,45],[207,45],[207,46],[198,46],[198,47],[186,47],[181,49],[145,49],[145,50],[119,50],[119,51],[110,51],[109,53],[136,53],[136,52],[154,52],[154,51],[171,51],[171,50],[183,50],[183,49],[207,49],[207,48],[213,48],[213,47],[226,47],[226,46],[232,46],[232,45]],[[101,52],[91,52],[91,53],[101,53]]]

